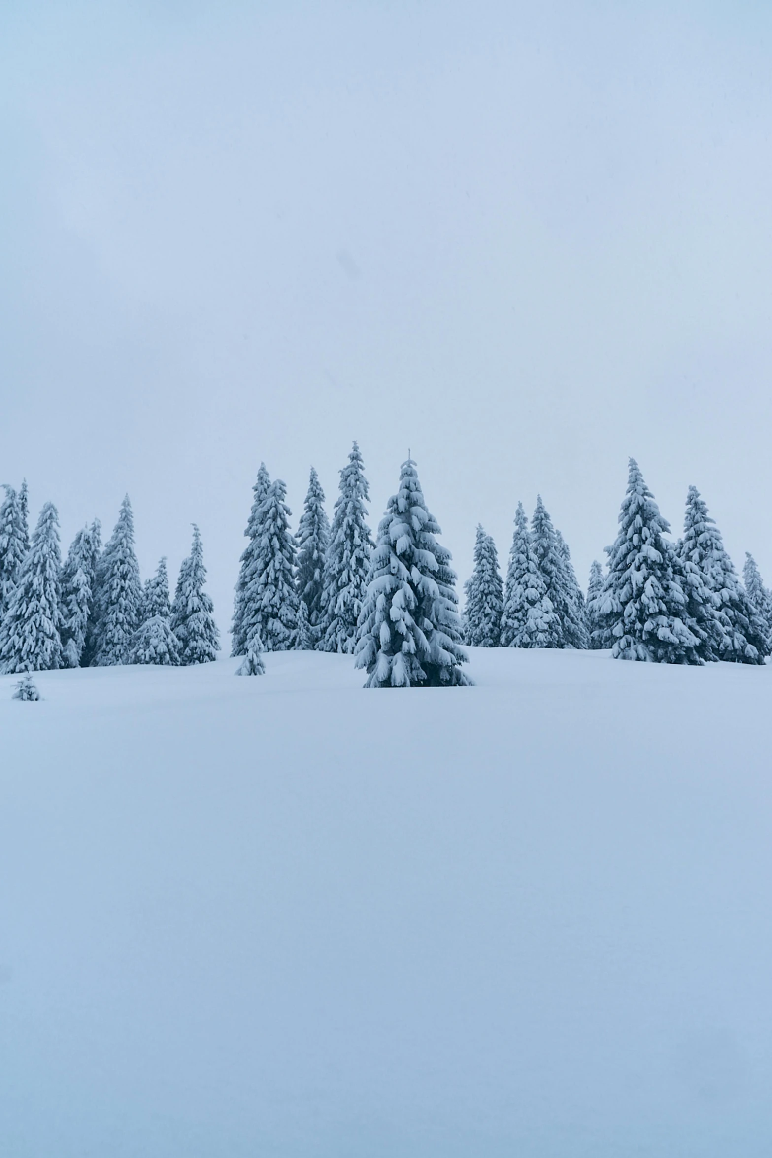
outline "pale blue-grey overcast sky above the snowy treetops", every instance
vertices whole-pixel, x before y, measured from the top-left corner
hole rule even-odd
[[[65,547],[198,521],[226,628],[260,460],[296,525],[356,438],[462,580],[541,491],[586,584],[628,455],[772,580],[772,7],[6,0],[0,118],[0,482]]]

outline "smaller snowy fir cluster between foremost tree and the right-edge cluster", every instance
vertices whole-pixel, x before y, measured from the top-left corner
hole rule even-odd
[[[477,528],[475,570],[464,585],[464,636],[478,647],[587,647],[584,596],[568,547],[539,494],[530,527],[517,504],[506,584],[495,544]]]

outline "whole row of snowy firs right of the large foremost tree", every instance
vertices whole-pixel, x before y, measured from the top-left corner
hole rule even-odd
[[[608,573],[593,563],[584,600],[571,555],[539,497],[530,527],[517,507],[506,584],[497,549],[477,529],[465,584],[465,639],[483,647],[610,647],[617,659],[763,664],[772,646],[772,596],[748,555],[744,586],[696,488],[684,534],[670,528],[634,460]]]

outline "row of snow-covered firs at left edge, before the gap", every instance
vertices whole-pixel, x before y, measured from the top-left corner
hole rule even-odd
[[[126,497],[102,549],[98,521],[79,530],[61,564],[52,503],[29,535],[27,488],[0,506],[0,670],[115,664],[201,664],[219,650],[198,528],[174,601],[166,559],[145,586]]]

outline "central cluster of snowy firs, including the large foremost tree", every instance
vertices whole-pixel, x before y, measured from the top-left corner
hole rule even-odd
[[[297,535],[286,488],[265,464],[253,486],[233,617],[240,674],[262,669],[262,652],[289,648],[355,654],[367,687],[468,683],[450,552],[435,536],[414,462],[402,468],[374,544],[369,492],[356,442],[340,471],[332,523],[311,469]]]

